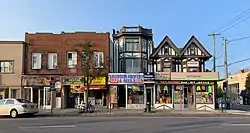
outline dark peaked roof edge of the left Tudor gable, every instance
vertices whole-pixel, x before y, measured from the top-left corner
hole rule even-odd
[[[161,41],[161,43],[155,48],[154,53],[151,55],[151,57],[154,57],[157,55],[157,53],[160,51],[160,49],[164,46],[164,44],[168,42],[171,48],[175,50],[177,55],[180,55],[179,48],[176,47],[176,45],[172,42],[172,40],[166,35],[164,39]]]

